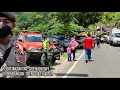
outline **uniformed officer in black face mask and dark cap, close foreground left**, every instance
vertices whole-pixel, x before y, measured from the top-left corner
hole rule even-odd
[[[0,68],[26,66],[23,48],[12,41],[12,30],[16,27],[15,21],[12,12],[0,12]],[[0,74],[0,77],[4,77],[3,73]]]

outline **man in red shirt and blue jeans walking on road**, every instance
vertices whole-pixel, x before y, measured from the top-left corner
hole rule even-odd
[[[91,49],[94,49],[94,42],[91,35],[88,33],[87,37],[84,39],[84,49],[85,49],[85,60],[86,63],[91,59]]]

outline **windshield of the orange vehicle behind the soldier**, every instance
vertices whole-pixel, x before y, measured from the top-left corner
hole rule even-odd
[[[42,42],[43,38],[40,35],[25,35],[26,42]]]

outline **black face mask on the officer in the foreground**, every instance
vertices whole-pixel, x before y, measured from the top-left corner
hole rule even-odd
[[[9,34],[12,35],[12,31],[11,28],[9,26],[7,26],[4,23],[0,23],[0,38],[5,38],[7,37]]]

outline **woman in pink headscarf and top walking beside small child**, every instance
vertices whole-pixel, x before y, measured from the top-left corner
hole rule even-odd
[[[75,61],[75,52],[76,52],[76,48],[78,47],[78,42],[75,40],[75,38],[71,38],[71,42],[70,42],[70,45],[71,45],[71,52],[73,53],[73,61]]]

